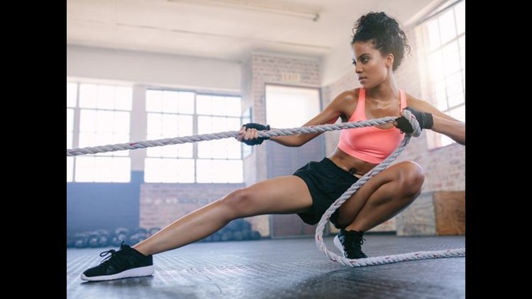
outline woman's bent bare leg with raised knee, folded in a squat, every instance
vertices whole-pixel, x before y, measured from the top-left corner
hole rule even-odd
[[[367,181],[340,206],[338,225],[365,232],[389,220],[419,196],[424,179],[419,164],[394,164]]]

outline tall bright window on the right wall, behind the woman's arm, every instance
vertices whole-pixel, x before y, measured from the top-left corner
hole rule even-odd
[[[419,29],[428,52],[427,98],[443,113],[465,122],[465,1],[439,10]],[[427,135],[429,148],[453,143],[445,135]]]

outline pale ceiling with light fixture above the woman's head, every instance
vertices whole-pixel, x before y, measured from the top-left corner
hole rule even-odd
[[[409,26],[441,0],[67,0],[67,45],[242,61],[250,52],[324,57],[356,18]]]

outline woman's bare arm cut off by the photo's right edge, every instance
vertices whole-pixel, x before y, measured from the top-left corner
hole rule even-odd
[[[465,123],[446,115],[430,103],[418,98],[410,97],[408,106],[417,111],[431,113],[434,120],[431,130],[447,135],[460,145],[465,145]]]

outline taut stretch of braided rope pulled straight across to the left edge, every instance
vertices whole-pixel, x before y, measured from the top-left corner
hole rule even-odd
[[[294,134],[308,134],[327,132],[333,130],[344,130],[353,128],[369,127],[372,125],[383,125],[385,123],[392,123],[396,118],[388,116],[386,118],[375,118],[372,120],[364,120],[352,123],[338,123],[336,125],[314,125],[311,127],[280,129],[260,131],[259,137],[274,137],[274,136],[288,136]],[[219,132],[214,134],[193,135],[175,138],[165,138],[158,140],[146,140],[130,143],[122,143],[118,145],[100,145],[97,147],[82,147],[77,149],[67,149],[67,157],[77,156],[80,154],[97,154],[100,152],[116,152],[119,150],[138,150],[146,147],[162,147],[165,145],[180,145],[182,143],[198,142],[205,140],[217,140],[223,138],[237,137],[238,131]]]

